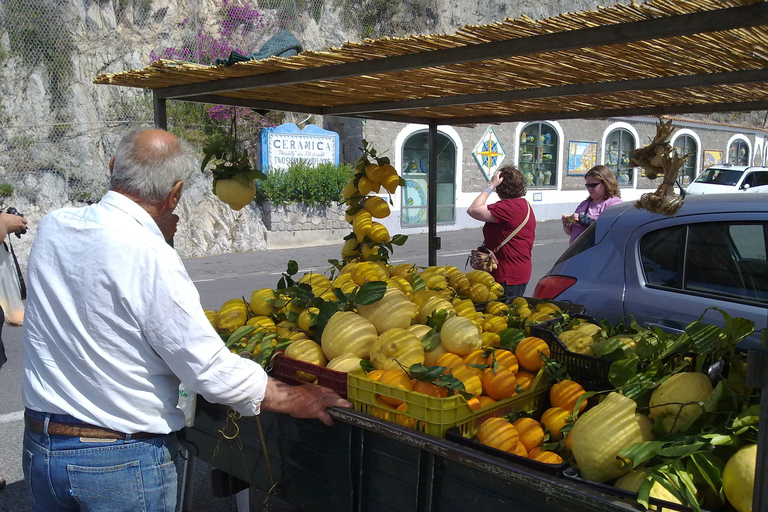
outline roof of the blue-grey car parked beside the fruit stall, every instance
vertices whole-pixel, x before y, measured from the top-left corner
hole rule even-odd
[[[602,240],[614,224],[628,234],[637,226],[665,217],[731,212],[768,212],[768,198],[763,194],[686,195],[683,206],[674,215],[652,213],[644,208],[636,208],[635,201],[625,201],[607,208],[600,214],[595,226],[595,239]]]

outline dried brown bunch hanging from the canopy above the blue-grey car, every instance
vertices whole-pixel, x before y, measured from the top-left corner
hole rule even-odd
[[[672,121],[662,121],[656,125],[656,136],[645,147],[632,152],[632,165],[642,167],[645,175],[656,179],[659,174],[663,180],[653,193],[645,193],[635,203],[637,208],[644,208],[653,213],[674,215],[683,205],[683,196],[675,193],[675,180],[690,156],[677,154],[677,149],[669,143],[669,136],[674,127]]]

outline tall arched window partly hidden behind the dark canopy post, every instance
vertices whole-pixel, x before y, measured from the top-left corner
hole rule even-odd
[[[429,133],[418,131],[403,144],[402,225],[427,223],[427,172],[429,170]],[[437,134],[437,222],[455,222],[456,145],[447,135]]]

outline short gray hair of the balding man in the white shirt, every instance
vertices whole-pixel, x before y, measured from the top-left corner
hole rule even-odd
[[[140,133],[132,130],[118,144],[109,188],[158,203],[176,183],[189,178],[199,164],[182,139],[176,138],[170,144],[138,144]]]

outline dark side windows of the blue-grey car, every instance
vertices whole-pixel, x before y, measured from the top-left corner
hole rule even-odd
[[[640,241],[646,283],[768,303],[768,223],[710,222],[652,231]]]

